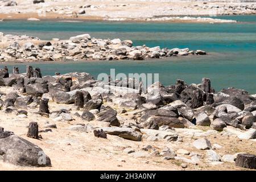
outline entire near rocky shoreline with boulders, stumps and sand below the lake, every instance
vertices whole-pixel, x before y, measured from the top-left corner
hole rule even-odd
[[[127,86],[118,86],[120,82]],[[155,82],[143,92],[134,82],[112,78],[102,82],[77,72],[42,76],[40,68],[31,66],[27,73],[19,73],[16,67],[13,74],[1,69],[0,168],[5,163],[55,168],[62,159],[61,150],[70,159],[77,152],[102,159],[118,155],[118,168],[134,160],[132,164],[151,168],[164,167],[164,163],[169,170],[170,165],[174,169],[228,166],[241,170],[241,158],[256,158],[255,96],[235,88],[216,92],[209,78],[191,85],[183,80],[170,86]],[[85,150],[85,138],[100,149]],[[40,146],[46,151],[44,164],[38,163]],[[76,152],[67,147],[75,147]],[[115,163],[114,156],[106,159],[108,165]],[[255,164],[247,162],[242,167],[255,169]]]

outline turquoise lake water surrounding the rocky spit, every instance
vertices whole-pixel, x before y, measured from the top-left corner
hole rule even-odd
[[[44,75],[55,72],[99,73],[159,73],[164,85],[174,84],[177,78],[188,84],[209,77],[216,90],[233,86],[256,93],[256,15],[218,16],[237,19],[241,23],[125,23],[125,22],[0,22],[0,32],[27,34],[40,39],[68,39],[89,33],[95,38],[131,39],[135,46],[203,49],[207,56],[170,57],[157,60],[95,61],[64,64],[32,64]],[[8,65],[11,69],[12,65]],[[19,65],[25,71],[26,65]]]

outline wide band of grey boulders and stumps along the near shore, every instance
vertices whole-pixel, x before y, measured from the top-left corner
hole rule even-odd
[[[129,81],[127,80],[127,86]],[[193,129],[196,126],[208,127],[211,132],[216,133],[228,133],[228,130],[232,130],[230,127],[233,127],[233,130],[239,133],[234,137],[256,138],[256,98],[245,90],[228,88],[215,92],[208,78],[203,78],[201,84],[191,85],[185,84],[183,80],[177,80],[175,85],[170,86],[156,82],[145,92],[133,86],[121,89],[115,86],[118,82],[120,80],[114,80],[114,84],[111,80],[108,83],[94,80],[88,73],[57,73],[55,76],[42,76],[39,68],[33,69],[31,66],[27,66],[27,73],[19,73],[19,69],[14,67],[13,74],[9,74],[8,69],[4,68],[0,71],[0,85],[11,87],[15,91],[0,93],[0,107],[3,113],[15,113],[20,118],[27,117],[28,108],[33,108],[38,110],[33,114],[51,118],[53,122],[71,122],[80,118],[85,122],[107,123],[108,126],[104,127],[83,124],[69,128],[73,131],[92,132],[98,138],[116,135],[137,142],[182,142],[181,133],[192,133],[192,136],[196,137],[204,137],[207,134]],[[108,89],[112,87],[116,88],[115,92]],[[159,90],[156,95],[155,89]],[[49,101],[73,107],[71,110],[50,110]],[[127,120],[125,115],[128,113],[132,113],[132,117]],[[32,122],[27,136],[39,139],[38,133],[56,129],[56,125],[49,123],[47,128],[38,131],[37,123]],[[38,166],[38,163],[35,163],[35,154],[41,151],[40,148],[11,132],[3,129],[0,131],[0,159],[19,165]],[[1,144],[6,142],[9,143],[8,146]],[[23,144],[14,149],[13,143]],[[23,146],[31,147],[31,154],[28,154],[28,150]],[[209,162],[234,162],[233,156],[220,157],[216,154],[207,139],[195,140],[193,146],[199,150],[209,150]],[[185,150],[174,152],[171,148],[165,148],[163,151],[152,150],[150,147],[144,148],[144,151],[126,148],[124,152],[134,157],[163,156],[165,160],[176,159],[192,164],[200,161],[195,154]],[[176,153],[189,155],[191,159],[183,158]],[[23,154],[26,160],[20,161],[20,154]],[[44,166],[51,166],[48,157]],[[182,166],[186,167],[185,164]]]

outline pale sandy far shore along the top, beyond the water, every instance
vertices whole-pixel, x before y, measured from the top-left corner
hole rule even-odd
[[[0,19],[71,19],[72,13],[84,9],[85,14],[78,15],[83,20],[146,20],[147,18],[161,18],[177,15],[222,15],[222,14],[255,14],[255,2],[240,1],[178,1],[178,0],[46,0],[46,3],[32,4],[28,0],[16,0],[18,6],[0,6]],[[5,5],[6,2],[2,2]],[[1,2],[0,2],[1,5]],[[84,8],[86,5],[90,7]],[[80,8],[83,6],[82,8]],[[154,20],[154,19],[151,19]],[[164,19],[163,19],[164,20]],[[168,21],[184,21],[169,19]],[[186,20],[196,22],[196,20]]]

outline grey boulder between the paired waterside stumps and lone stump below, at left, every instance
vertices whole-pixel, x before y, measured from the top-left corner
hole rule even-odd
[[[25,86],[26,93],[36,97],[42,97],[44,93],[48,93],[47,84],[28,84]]]

